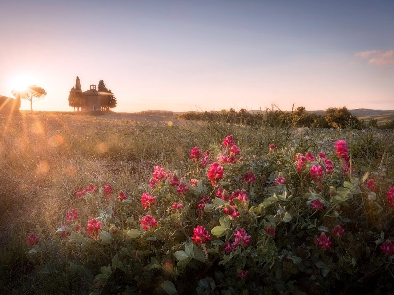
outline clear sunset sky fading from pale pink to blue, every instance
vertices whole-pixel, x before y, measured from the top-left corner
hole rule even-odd
[[[0,0],[0,95],[103,79],[117,112],[394,109],[394,1]],[[30,109],[22,101],[21,109]]]

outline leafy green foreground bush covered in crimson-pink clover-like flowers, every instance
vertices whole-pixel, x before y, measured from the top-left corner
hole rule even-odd
[[[139,196],[80,188],[59,229],[47,222],[29,237],[46,291],[393,291],[390,180],[354,172],[344,141],[331,159],[273,145],[247,155],[234,144],[193,148],[184,175],[156,166]]]

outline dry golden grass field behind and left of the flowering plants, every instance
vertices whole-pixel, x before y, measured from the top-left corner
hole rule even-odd
[[[270,144],[330,154],[334,142],[345,139],[352,141],[360,165],[385,165],[393,171],[393,160],[387,158],[393,149],[388,131],[252,128],[132,116],[44,113],[0,118],[0,293],[39,293],[35,267],[25,256],[26,239],[35,225],[45,229],[46,213],[59,227],[80,186],[108,183],[138,195],[137,187],[149,180],[154,166],[182,171],[190,149],[208,149],[229,134],[249,155],[260,155]],[[88,209],[80,214],[88,216]]]

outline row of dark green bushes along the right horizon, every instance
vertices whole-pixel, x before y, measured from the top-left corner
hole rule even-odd
[[[233,124],[259,125],[268,124],[271,127],[317,127],[317,128],[356,128],[378,127],[381,129],[393,128],[394,122],[377,125],[376,119],[362,120],[353,116],[346,107],[329,107],[323,114],[305,111],[305,107],[297,107],[291,112],[269,110],[266,112],[249,113],[245,109],[236,112],[234,109],[219,112],[187,112],[177,118],[200,121],[222,121]],[[391,127],[390,127],[391,126]]]

